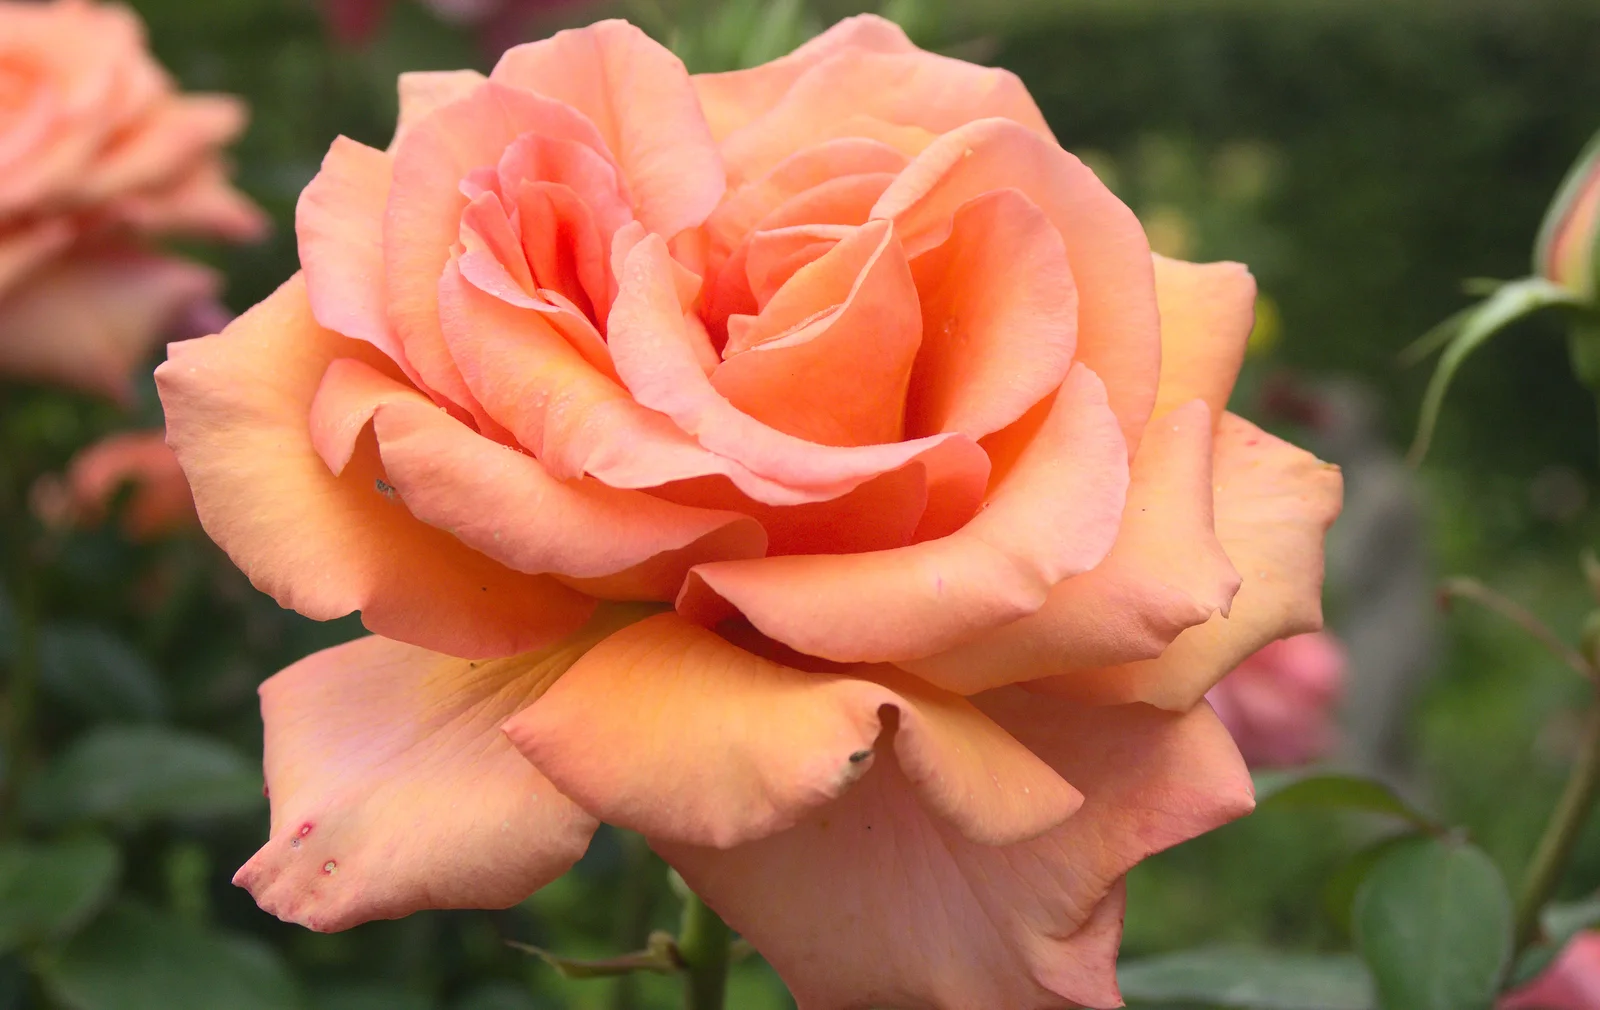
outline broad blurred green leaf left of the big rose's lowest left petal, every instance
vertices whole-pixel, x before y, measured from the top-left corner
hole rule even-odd
[[[128,826],[250,813],[261,802],[261,772],[237,751],[158,727],[85,733],[22,794],[34,821]]]

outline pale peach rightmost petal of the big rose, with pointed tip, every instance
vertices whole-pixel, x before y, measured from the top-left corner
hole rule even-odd
[[[1322,627],[1323,538],[1339,515],[1339,467],[1234,415],[1218,426],[1213,467],[1216,535],[1243,578],[1227,616],[1182,632],[1160,658],[1029,687],[1187,709],[1262,645]]]

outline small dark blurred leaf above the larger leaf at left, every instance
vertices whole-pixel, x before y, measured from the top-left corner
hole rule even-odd
[[[160,677],[131,645],[93,624],[38,634],[38,680],[58,701],[96,719],[142,722],[166,712]]]

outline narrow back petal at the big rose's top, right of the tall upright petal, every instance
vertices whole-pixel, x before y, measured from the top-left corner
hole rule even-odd
[[[915,53],[917,46],[898,24],[877,14],[845,18],[787,56],[747,70],[696,74],[699,94],[710,133],[718,141],[770,110],[802,74],[824,59],[846,50],[864,53]]]

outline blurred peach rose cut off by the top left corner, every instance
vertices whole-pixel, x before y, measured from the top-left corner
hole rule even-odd
[[[266,227],[219,155],[243,125],[234,98],[178,94],[126,8],[0,0],[0,375],[130,394],[221,283],[139,240]]]

